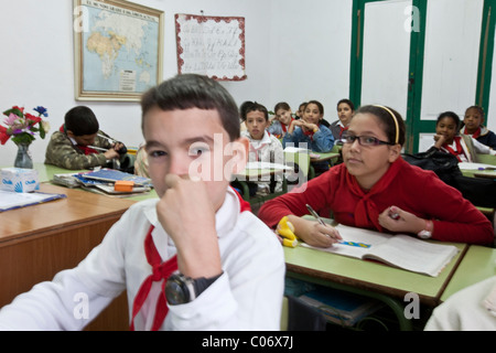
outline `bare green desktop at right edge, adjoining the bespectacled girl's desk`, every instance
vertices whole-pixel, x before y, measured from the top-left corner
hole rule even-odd
[[[496,276],[496,249],[471,245],[441,296],[441,300],[445,301],[459,290],[493,276]]]

